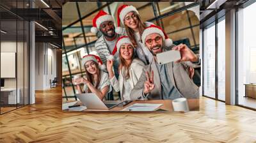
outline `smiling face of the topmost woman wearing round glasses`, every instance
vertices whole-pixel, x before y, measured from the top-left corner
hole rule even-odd
[[[138,28],[138,15],[134,13],[133,11],[127,13],[124,17],[124,24],[131,29]]]

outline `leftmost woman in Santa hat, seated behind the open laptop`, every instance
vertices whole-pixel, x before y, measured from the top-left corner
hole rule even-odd
[[[79,93],[95,93],[100,100],[111,91],[109,86],[108,73],[103,72],[101,69],[104,68],[104,64],[100,60],[99,56],[89,54],[83,57],[83,65],[86,72],[86,78],[78,77],[74,79],[74,84],[77,85]],[[101,65],[99,65],[99,63]],[[83,84],[83,89],[81,88]]]

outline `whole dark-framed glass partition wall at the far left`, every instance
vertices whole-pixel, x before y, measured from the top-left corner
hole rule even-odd
[[[13,10],[27,1],[5,1]],[[29,22],[0,8],[0,114],[29,103]],[[3,14],[4,13],[4,14]]]

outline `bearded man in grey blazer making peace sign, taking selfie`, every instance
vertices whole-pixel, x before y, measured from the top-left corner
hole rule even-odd
[[[171,45],[170,39],[158,26],[150,26],[141,36],[143,44],[152,52],[154,60],[145,66],[134,89],[131,99],[147,98],[148,100],[174,100],[175,98],[199,98],[198,87],[189,77],[189,67],[200,66],[200,59],[186,45]],[[179,50],[181,59],[175,62],[158,64],[156,54],[164,52],[165,41],[168,49]]]

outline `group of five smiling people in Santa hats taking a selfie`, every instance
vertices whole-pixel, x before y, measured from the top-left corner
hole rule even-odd
[[[200,66],[198,55],[187,45],[173,45],[161,27],[143,22],[132,5],[119,6],[116,18],[117,27],[114,18],[100,10],[92,21],[92,33],[102,33],[95,42],[99,56],[83,57],[86,78],[74,79],[79,93],[95,93],[101,100],[112,89],[120,92],[121,100],[199,98],[192,80],[194,68]],[[179,50],[181,59],[158,64],[156,54],[167,50]]]

